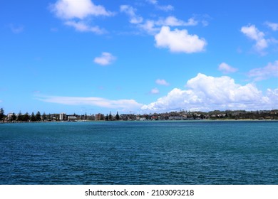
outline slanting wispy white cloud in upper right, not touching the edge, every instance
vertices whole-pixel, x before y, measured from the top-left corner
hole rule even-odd
[[[252,40],[256,41],[256,44],[254,45],[254,48],[262,52],[264,48],[268,47],[267,40],[264,38],[264,33],[259,31],[256,26],[249,25],[249,26],[243,26],[241,28],[241,32],[244,33],[245,36],[248,38],[251,38]]]

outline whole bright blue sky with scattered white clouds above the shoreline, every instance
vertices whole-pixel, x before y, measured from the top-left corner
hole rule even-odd
[[[278,109],[278,1],[0,3],[0,107]]]

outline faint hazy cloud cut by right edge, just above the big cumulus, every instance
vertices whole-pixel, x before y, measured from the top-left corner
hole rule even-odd
[[[264,68],[254,68],[248,72],[248,76],[255,81],[265,80],[269,77],[278,77],[278,60],[268,63]]]

